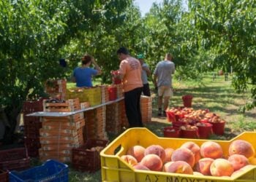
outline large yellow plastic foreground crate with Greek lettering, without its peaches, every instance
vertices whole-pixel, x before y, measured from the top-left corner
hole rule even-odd
[[[243,132],[230,141],[215,141],[222,146],[224,156],[228,156],[228,148],[234,140],[245,140],[252,143],[256,149],[256,132]],[[127,153],[129,147],[140,145],[143,147],[152,144],[159,144],[163,148],[171,147],[178,149],[183,143],[193,141],[197,145],[201,145],[207,140],[185,139],[185,138],[159,138],[153,132],[146,128],[131,128],[126,130],[112,141],[100,153],[102,165],[102,181],[124,181],[124,182],[149,182],[149,181],[166,181],[166,182],[255,182],[256,181],[256,165],[241,173],[236,178],[214,177],[214,176],[198,176],[186,175],[178,173],[165,173],[148,170],[134,170],[126,162],[121,160],[121,155]]]

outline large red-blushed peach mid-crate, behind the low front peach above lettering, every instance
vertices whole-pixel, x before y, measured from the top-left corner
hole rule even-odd
[[[192,151],[186,148],[179,148],[173,151],[171,157],[172,161],[184,161],[187,162],[191,167],[195,165],[195,155]]]

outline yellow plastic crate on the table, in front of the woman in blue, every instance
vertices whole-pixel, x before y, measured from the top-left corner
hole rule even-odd
[[[90,106],[97,106],[102,103],[102,90],[100,87],[71,88],[67,90],[66,100],[79,98],[80,103],[89,102]]]

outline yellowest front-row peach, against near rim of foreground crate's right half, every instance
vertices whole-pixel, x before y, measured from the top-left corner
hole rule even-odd
[[[234,168],[227,159],[215,159],[210,167],[213,176],[230,176],[234,172]]]

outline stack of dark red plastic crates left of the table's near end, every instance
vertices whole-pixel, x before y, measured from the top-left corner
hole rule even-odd
[[[42,110],[42,99],[23,102],[24,143],[30,157],[39,156],[39,129],[42,123],[38,116],[26,115]]]

